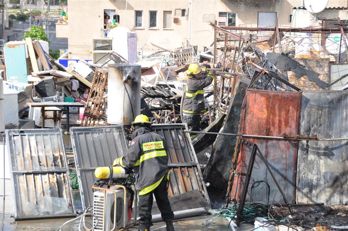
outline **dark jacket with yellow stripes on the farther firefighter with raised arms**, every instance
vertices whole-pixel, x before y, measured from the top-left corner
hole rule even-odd
[[[202,71],[200,78],[189,78],[185,87],[182,105],[184,115],[199,115],[205,113],[203,88],[209,86],[214,79],[213,72]]]

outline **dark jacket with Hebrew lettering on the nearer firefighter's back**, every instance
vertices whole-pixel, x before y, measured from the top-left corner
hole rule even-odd
[[[144,195],[154,190],[164,177],[168,177],[167,145],[163,137],[146,127],[134,130],[132,137],[120,165],[134,167],[135,188],[139,195]]]

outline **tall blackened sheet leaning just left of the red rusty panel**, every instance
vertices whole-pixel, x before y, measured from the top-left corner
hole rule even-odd
[[[245,95],[245,89],[250,79],[239,75],[233,97],[230,100],[229,109],[223,123],[222,133],[238,133],[240,113]],[[204,169],[203,177],[212,186],[226,190],[232,165],[232,157],[235,152],[236,137],[218,135],[216,137],[212,153]]]

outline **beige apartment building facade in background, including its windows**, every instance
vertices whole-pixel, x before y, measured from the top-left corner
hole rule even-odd
[[[309,15],[311,25],[320,17],[346,20],[347,0],[330,0],[324,11]],[[219,26],[290,27],[302,0],[70,0],[67,22],[57,23],[57,38],[68,38],[69,58],[90,59],[92,38],[105,36],[106,15],[111,23],[136,32],[137,46],[147,53],[185,45],[211,46]],[[300,14],[298,14],[300,15]],[[320,20],[318,20],[318,18]],[[106,30],[110,29],[107,27]]]

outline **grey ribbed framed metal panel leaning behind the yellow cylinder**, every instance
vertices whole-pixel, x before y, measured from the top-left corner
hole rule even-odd
[[[122,126],[72,127],[71,144],[80,187],[82,208],[93,206],[92,186],[97,167],[111,166],[114,159],[127,151]]]

